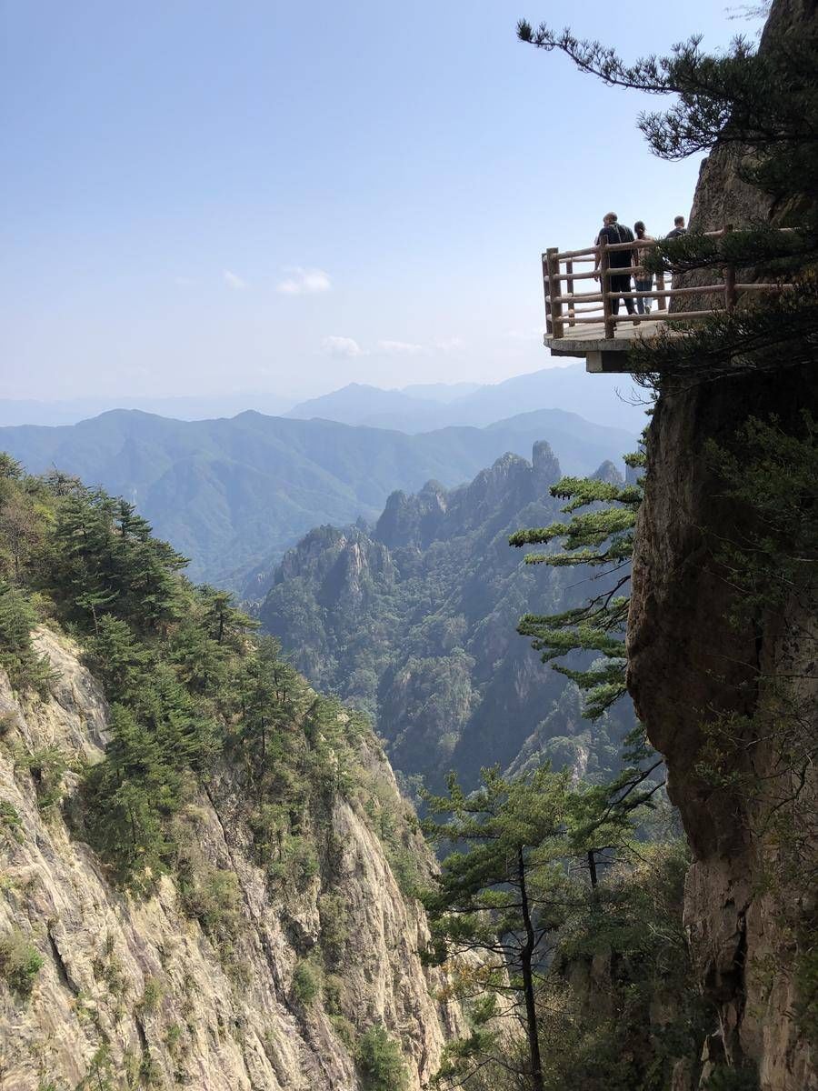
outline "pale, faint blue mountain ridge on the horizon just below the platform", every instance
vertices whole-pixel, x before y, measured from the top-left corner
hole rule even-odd
[[[625,375],[589,375],[585,364],[544,368],[516,375],[503,383],[479,386],[445,404],[434,386],[408,386],[386,391],[350,383],[332,394],[302,401],[288,417],[320,417],[345,424],[395,428],[401,432],[425,432],[452,424],[482,427],[533,409],[563,409],[586,420],[639,434],[647,423],[643,393],[635,398]]]

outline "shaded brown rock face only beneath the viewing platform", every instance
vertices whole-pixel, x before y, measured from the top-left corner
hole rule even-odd
[[[804,401],[818,406],[817,377],[742,380],[660,401],[649,433],[629,626],[630,693],[667,760],[669,791],[696,855],[685,916],[702,987],[721,1021],[713,1048],[758,1062],[765,1089],[792,1091],[818,1086],[791,1018],[793,952],[786,950],[801,911],[810,911],[809,895],[801,891],[804,904],[790,907],[794,920],[782,914],[775,894],[765,889],[766,856],[777,850],[751,834],[761,823],[761,801],[756,811],[751,800],[737,802],[714,788],[700,763],[707,762],[707,726],[720,714],[751,717],[762,699],[759,673],[814,678],[814,649],[782,643],[795,620],[787,611],[763,619],[760,630],[731,623],[734,590],[711,546],[725,527],[741,533],[741,516],[720,495],[699,452],[709,439],[729,443],[750,413],[792,421]],[[813,708],[815,698],[818,691]],[[733,771],[775,776],[772,752],[746,743]],[[806,813],[815,805],[808,784],[801,805]]]

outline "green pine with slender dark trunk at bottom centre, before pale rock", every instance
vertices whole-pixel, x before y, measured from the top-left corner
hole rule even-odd
[[[517,778],[484,769],[470,794],[453,774],[448,793],[428,795],[426,804],[426,835],[455,846],[423,899],[432,926],[426,958],[448,964],[477,1000],[472,1033],[449,1046],[438,1082],[460,1086],[481,1069],[508,1068],[493,1024],[512,1016],[527,1043],[518,1075],[543,1091],[537,996],[546,961],[570,908],[589,890],[593,897],[594,861],[628,841],[629,824],[622,813],[605,813],[593,790],[572,787],[568,771],[548,766]],[[588,880],[578,877],[586,866]],[[453,964],[471,955],[480,960]]]

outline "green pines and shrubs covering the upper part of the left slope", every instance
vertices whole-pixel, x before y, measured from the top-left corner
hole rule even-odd
[[[315,880],[339,795],[383,810],[377,776],[361,764],[369,728],[310,690],[227,592],[190,584],[184,559],[131,504],[64,475],[26,476],[8,458],[1,466],[0,520],[11,509],[28,530],[0,549],[0,609],[20,621],[3,634],[3,666],[24,692],[45,692],[50,667],[40,670],[31,650],[36,601],[80,643],[110,702],[105,757],[77,769],[76,831],[134,892],[172,872],[185,911],[238,969],[242,895],[234,873],[199,848],[197,796],[239,795],[256,861],[286,899]],[[69,758],[17,744],[14,755],[40,810],[58,806]],[[392,807],[389,841],[402,844],[406,815]],[[13,813],[2,818],[13,832]],[[328,921],[330,901],[324,910]],[[327,924],[327,946],[337,947],[339,925],[330,934]]]

